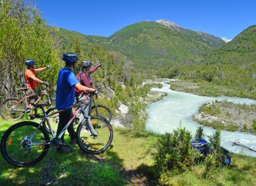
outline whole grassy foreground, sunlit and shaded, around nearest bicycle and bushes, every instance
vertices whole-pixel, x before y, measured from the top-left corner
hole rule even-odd
[[[0,119],[0,136],[14,123]],[[182,174],[166,172],[156,178],[157,138],[144,131],[114,128],[113,143],[104,154],[84,154],[73,145],[71,154],[52,149],[39,164],[26,168],[11,166],[0,156],[0,185],[256,185],[256,158],[237,154],[232,154],[230,167],[207,176],[204,164],[198,164]],[[65,140],[69,141],[68,135]]]

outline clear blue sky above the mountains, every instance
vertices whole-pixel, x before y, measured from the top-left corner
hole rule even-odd
[[[233,39],[256,24],[256,1],[35,0],[48,25],[109,37],[143,20],[170,20],[183,28]]]

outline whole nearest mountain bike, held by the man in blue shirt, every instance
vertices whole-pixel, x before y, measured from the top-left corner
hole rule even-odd
[[[3,158],[8,163],[18,167],[37,164],[45,157],[49,149],[64,145],[60,138],[79,113],[84,115],[84,120],[77,127],[77,144],[80,149],[88,154],[105,152],[113,140],[111,124],[100,116],[88,116],[85,110],[88,107],[84,107],[88,103],[85,103],[85,101],[79,99],[77,103],[78,107],[75,114],[73,114],[71,120],[69,120],[58,137],[54,135],[49,117],[65,110],[59,110],[48,115],[44,110],[45,104],[34,104],[36,108],[41,109],[43,119],[40,124],[24,121],[18,122],[7,129],[1,138],[1,154]],[[50,108],[50,110],[52,109]],[[44,121],[47,122],[51,131],[51,138],[42,125]]]

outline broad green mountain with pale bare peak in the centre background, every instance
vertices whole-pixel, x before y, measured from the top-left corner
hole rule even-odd
[[[202,53],[225,44],[211,34],[182,28],[168,20],[131,24],[110,37],[85,36],[63,29],[58,35],[65,45],[78,37],[83,49],[86,43],[94,43],[109,51],[120,51],[137,68],[196,61]]]

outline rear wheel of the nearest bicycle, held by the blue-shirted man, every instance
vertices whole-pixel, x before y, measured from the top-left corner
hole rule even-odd
[[[50,145],[48,133],[36,122],[18,122],[4,133],[1,139],[1,154],[5,160],[14,166],[30,166],[40,162],[47,154]],[[32,143],[32,144],[31,144]]]

